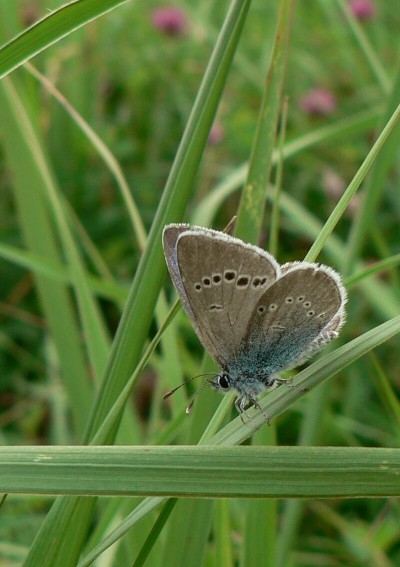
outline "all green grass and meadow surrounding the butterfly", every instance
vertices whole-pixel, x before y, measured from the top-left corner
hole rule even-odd
[[[354,4],[0,0],[2,566],[399,565],[400,17]],[[163,227],[234,214],[349,292],[246,423],[162,399],[215,370]]]

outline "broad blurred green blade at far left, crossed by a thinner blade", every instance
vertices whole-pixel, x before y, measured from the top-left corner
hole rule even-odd
[[[16,106],[12,89],[6,81],[0,83],[0,122],[3,126],[3,147],[13,176],[14,196],[20,217],[21,230],[27,248],[33,255],[50,264],[61,264],[62,254],[43,194],[46,179],[38,166],[38,140],[29,138],[20,118],[24,108]],[[28,141],[29,138],[29,141]],[[32,147],[32,144],[35,146]],[[91,404],[91,387],[86,358],[81,347],[80,328],[66,286],[47,275],[37,275],[35,283],[43,313],[55,342],[60,371],[65,380],[76,432],[82,432],[84,416]]]

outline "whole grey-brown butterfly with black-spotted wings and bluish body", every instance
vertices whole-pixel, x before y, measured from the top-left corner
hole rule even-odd
[[[180,300],[222,371],[211,385],[238,393],[239,413],[262,390],[335,339],[345,321],[346,290],[332,268],[278,264],[257,246],[223,232],[167,225],[163,246]]]

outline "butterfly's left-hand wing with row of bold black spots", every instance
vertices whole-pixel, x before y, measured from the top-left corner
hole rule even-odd
[[[173,241],[178,230],[173,227],[170,235],[167,227],[164,242]],[[280,273],[279,265],[235,238],[196,227],[179,231],[175,247],[176,259],[167,257],[167,262],[172,278],[174,271],[179,274],[179,285],[174,283],[182,303],[204,347],[225,367],[240,348],[254,306]]]

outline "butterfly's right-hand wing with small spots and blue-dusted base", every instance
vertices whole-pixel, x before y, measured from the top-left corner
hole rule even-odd
[[[343,305],[340,283],[313,264],[289,270],[259,299],[248,324],[243,350],[270,373],[290,367]]]

